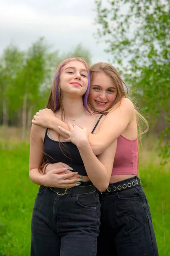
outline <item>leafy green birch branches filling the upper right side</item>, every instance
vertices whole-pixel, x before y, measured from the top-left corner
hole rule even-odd
[[[112,62],[119,64],[137,106],[159,129],[160,142],[170,136],[170,1],[96,0],[97,37],[105,37]],[[157,131],[157,130],[156,130]],[[170,157],[170,143],[161,146]],[[166,162],[166,160],[165,160]],[[165,163],[164,162],[164,163]]]

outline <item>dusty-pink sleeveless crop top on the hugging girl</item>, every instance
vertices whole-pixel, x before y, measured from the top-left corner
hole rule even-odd
[[[116,154],[111,175],[138,173],[138,138],[128,140],[120,135],[117,139]]]

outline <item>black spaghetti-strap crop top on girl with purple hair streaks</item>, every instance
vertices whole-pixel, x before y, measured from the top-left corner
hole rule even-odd
[[[102,116],[103,115],[99,117],[91,133],[93,133],[94,130],[96,129],[96,126],[98,125]],[[68,164],[68,166],[74,169],[74,172],[79,172],[79,175],[88,176],[77,146],[71,142],[60,142],[60,147],[59,147],[59,142],[57,140],[52,140],[50,137],[48,137],[47,131],[48,131],[48,128],[45,132],[44,152],[48,159],[48,162],[49,163],[58,163],[58,162],[66,163]]]

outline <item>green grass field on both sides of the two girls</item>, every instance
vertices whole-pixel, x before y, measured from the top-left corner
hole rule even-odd
[[[28,143],[0,144],[0,256],[29,256],[31,214],[38,186],[28,177]],[[140,177],[150,204],[159,256],[170,256],[170,166],[141,155]]]

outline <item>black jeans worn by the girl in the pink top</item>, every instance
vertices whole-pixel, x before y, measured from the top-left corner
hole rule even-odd
[[[136,179],[139,180],[138,177]],[[130,180],[133,178],[125,181]],[[119,184],[122,181],[114,183],[114,186]],[[110,185],[113,186],[113,183]],[[104,255],[159,255],[150,209],[142,186],[101,195],[97,256]]]

